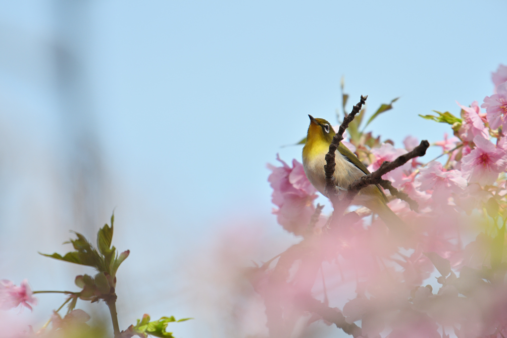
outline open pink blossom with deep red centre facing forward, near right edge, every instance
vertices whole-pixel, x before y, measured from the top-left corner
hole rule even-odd
[[[507,154],[481,135],[474,137],[476,147],[461,159],[462,171],[470,183],[493,184],[507,168]]]

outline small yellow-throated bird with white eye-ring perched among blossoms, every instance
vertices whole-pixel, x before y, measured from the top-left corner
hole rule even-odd
[[[325,196],[325,154],[329,152],[329,145],[336,133],[328,121],[308,116],[310,126],[303,147],[303,167],[308,180]],[[366,166],[341,142],[335,154],[335,162],[335,182],[342,189],[347,189],[350,183],[370,173]],[[387,206],[387,202],[387,197],[377,185],[369,185],[361,189],[353,200],[353,204],[364,205],[377,213],[389,228],[400,229],[404,223]]]

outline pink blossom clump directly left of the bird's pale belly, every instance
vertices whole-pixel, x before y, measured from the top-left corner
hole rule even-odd
[[[272,202],[278,206],[273,213],[278,223],[287,231],[303,235],[315,211],[313,200],[316,190],[305,175],[303,165],[293,160],[292,168],[277,155],[282,167],[268,164],[272,170],[268,181],[273,188]]]

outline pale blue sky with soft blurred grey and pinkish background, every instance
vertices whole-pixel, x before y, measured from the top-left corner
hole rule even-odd
[[[500,0],[70,3],[0,4],[0,278],[75,289],[84,271],[37,251],[66,252],[68,230],[92,236],[116,207],[120,324],[196,317],[180,338],[224,334],[201,315],[216,290],[189,277],[234,245],[224,233],[255,237],[257,261],[296,240],[266,163],[301,160],[281,146],[308,114],[338,123],[342,76],[348,110],[401,96],[368,128],[401,147],[443,139],[418,114],[482,103],[507,64]],[[39,298],[41,320],[62,300]]]

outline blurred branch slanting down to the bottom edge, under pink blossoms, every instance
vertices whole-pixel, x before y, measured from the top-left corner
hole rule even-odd
[[[354,338],[362,334],[361,328],[354,323],[347,323],[338,309],[330,308],[310,296],[301,297],[300,302],[304,310],[316,313],[323,320],[334,323],[336,327],[341,328],[343,332],[352,335]]]

